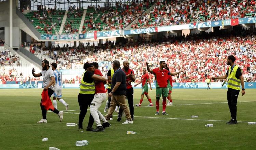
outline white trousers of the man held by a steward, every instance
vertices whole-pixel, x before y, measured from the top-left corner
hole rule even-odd
[[[98,110],[101,104],[107,99],[106,93],[97,93],[94,95],[93,101],[91,102],[90,112],[93,116],[96,126],[101,126],[101,122],[105,123],[106,119]]]

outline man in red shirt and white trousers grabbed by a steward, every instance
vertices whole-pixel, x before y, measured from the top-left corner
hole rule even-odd
[[[95,68],[94,74],[99,75],[99,76],[103,76],[101,71],[98,69],[99,64],[97,62],[93,62],[91,64]],[[98,110],[100,108],[101,104],[107,98],[104,84],[106,84],[106,81],[105,82],[102,82],[102,81],[97,81],[96,82],[95,81],[95,95],[94,95],[93,101],[91,102],[90,112],[91,112],[91,116],[93,116],[93,118],[95,120],[95,123],[96,123],[97,127],[92,132],[105,131],[104,129],[106,127],[110,126],[110,123],[108,121],[106,121],[105,117]],[[101,122],[102,122],[102,125],[101,125]]]

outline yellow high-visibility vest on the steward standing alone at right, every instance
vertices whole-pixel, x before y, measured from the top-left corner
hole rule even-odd
[[[240,90],[241,80],[236,78],[238,66],[234,66],[231,71],[231,66],[228,69],[228,88]]]

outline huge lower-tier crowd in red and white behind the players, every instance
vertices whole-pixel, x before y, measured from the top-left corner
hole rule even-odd
[[[128,60],[137,81],[146,66],[145,61],[150,62],[152,67],[157,67],[160,60],[165,60],[172,72],[186,69],[186,73],[174,76],[173,82],[204,82],[207,77],[224,74],[228,69],[227,56],[235,55],[236,64],[242,69],[245,81],[256,81],[255,33],[223,31],[217,35],[183,35],[163,38],[157,42],[138,40],[137,43],[122,46],[113,42],[98,46],[80,44],[77,48],[67,46],[39,51],[41,59],[57,62],[59,69],[82,69],[85,62],[100,62],[99,68],[103,74],[108,71],[111,61]],[[154,81],[153,76],[151,79]]]

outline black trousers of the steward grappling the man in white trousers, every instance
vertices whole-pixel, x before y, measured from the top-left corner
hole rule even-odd
[[[78,128],[83,128],[84,117],[87,113],[88,106],[91,106],[91,101],[93,101],[94,95],[95,94],[78,94],[78,103],[80,107]],[[90,115],[87,128],[91,128],[93,126],[93,122],[93,116]]]

